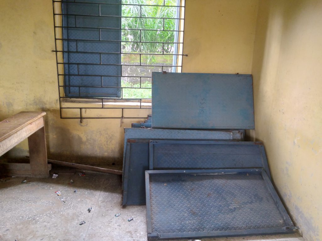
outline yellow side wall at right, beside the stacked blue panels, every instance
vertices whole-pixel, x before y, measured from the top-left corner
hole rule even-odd
[[[321,0],[260,0],[252,74],[251,136],[303,236],[322,240]]]

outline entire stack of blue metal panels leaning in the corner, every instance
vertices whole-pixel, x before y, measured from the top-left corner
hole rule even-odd
[[[153,115],[125,128],[123,156],[122,204],[147,205],[148,240],[297,228],[263,144],[243,141],[254,129],[251,75],[153,72],[152,101]]]

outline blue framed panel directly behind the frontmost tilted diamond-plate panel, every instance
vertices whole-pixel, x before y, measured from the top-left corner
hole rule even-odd
[[[150,170],[223,168],[263,168],[270,177],[261,142],[150,140]]]

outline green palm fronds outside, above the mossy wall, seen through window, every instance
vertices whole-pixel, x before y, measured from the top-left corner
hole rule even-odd
[[[126,0],[125,4],[154,4],[163,5],[163,0]],[[167,0],[166,5],[176,5],[176,0]],[[137,6],[122,5],[122,28],[124,29],[144,29],[140,30],[122,30],[123,41],[142,41],[142,42],[174,42],[175,32],[167,31],[175,29],[175,19],[157,18],[175,18],[176,7],[160,6]],[[131,17],[152,17],[152,18],[131,18]],[[164,25],[164,26],[163,26]],[[164,29],[164,31],[163,31]],[[166,43],[136,43],[123,42],[122,49],[128,53],[173,53],[174,44]],[[147,63],[156,63],[154,55],[149,55]]]

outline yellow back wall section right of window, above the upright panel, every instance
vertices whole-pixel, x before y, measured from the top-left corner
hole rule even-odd
[[[186,0],[183,72],[251,73],[258,0]]]

